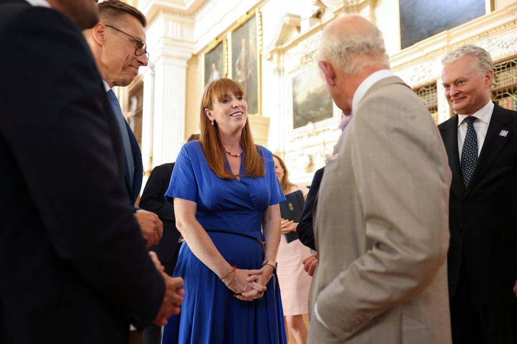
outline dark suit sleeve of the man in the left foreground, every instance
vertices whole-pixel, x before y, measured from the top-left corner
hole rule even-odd
[[[22,17],[0,37],[10,47],[0,57],[9,66],[2,72],[9,82],[0,85],[0,134],[56,255],[142,329],[158,313],[164,282],[124,192],[113,113],[95,62],[64,15],[33,7]]]

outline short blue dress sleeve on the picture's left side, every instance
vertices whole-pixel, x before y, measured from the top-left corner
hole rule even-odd
[[[192,146],[191,144],[188,143],[181,147],[174,164],[169,189],[165,192],[165,200],[170,204],[173,204],[173,198],[176,197],[197,202],[197,181],[188,149]]]

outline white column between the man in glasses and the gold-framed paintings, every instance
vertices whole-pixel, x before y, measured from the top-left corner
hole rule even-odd
[[[151,13],[152,12],[152,13]],[[144,170],[174,162],[185,143],[187,61],[192,57],[193,19],[158,5],[148,7],[150,53],[144,75],[142,159]]]

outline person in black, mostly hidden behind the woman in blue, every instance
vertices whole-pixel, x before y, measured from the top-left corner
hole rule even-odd
[[[190,135],[187,142],[199,140],[199,134]],[[158,259],[169,276],[174,272],[179,253],[180,233],[176,228],[176,216],[174,206],[165,201],[165,192],[169,188],[174,163],[166,163],[153,168],[147,183],[145,184],[140,207],[152,211],[158,215],[163,222],[163,236],[157,245],[149,248],[158,255]],[[149,325],[143,333],[143,343],[159,343],[161,338],[161,327],[154,324]]]

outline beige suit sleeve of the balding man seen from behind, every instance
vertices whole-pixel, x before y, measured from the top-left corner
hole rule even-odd
[[[366,251],[317,297],[321,318],[340,340],[415,298],[446,261],[446,153],[429,113],[399,87],[397,96],[365,99],[354,118],[352,164]]]

